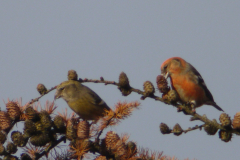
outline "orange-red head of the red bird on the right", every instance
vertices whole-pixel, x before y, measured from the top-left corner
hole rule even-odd
[[[186,61],[180,57],[169,58],[161,65],[161,75],[167,79],[174,74],[180,74],[186,68],[186,65]]]

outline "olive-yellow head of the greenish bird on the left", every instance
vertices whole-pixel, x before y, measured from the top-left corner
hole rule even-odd
[[[77,81],[69,80],[59,84],[56,88],[54,99],[63,98],[66,102],[69,102],[76,98],[76,92],[81,84]]]

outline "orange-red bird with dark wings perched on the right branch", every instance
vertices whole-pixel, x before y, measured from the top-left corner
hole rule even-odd
[[[161,65],[161,73],[165,78],[170,77],[172,89],[178,93],[183,103],[190,103],[193,109],[206,104],[223,111],[214,102],[202,76],[184,59],[180,57],[167,59]]]

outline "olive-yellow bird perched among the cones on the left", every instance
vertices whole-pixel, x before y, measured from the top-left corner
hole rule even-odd
[[[108,105],[90,88],[78,81],[69,80],[57,86],[54,99],[63,98],[68,106],[84,120],[98,120]]]

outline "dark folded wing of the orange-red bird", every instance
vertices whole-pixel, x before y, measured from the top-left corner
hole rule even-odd
[[[202,76],[200,75],[200,73],[191,65],[189,64],[189,68],[191,68],[189,70],[190,74],[192,74],[190,77],[191,77],[191,80],[198,84],[199,86],[201,86],[203,88],[203,90],[205,91],[205,94],[206,94],[206,97],[208,97],[208,99],[210,101],[213,101],[214,102],[214,99],[213,99],[213,96],[211,94],[211,92],[208,90]]]

